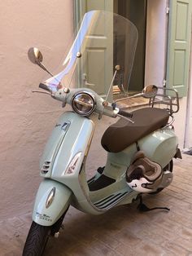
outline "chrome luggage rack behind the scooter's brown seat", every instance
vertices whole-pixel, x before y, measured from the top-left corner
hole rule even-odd
[[[159,108],[161,108],[160,105],[166,105],[170,116],[172,116],[173,113],[177,113],[179,111],[179,95],[177,90],[159,86],[157,86],[157,88],[159,89],[157,95],[149,101],[151,108],[156,104],[159,104]]]

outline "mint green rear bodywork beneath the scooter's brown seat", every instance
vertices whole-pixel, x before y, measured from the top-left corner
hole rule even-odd
[[[151,161],[159,163],[159,165],[164,168],[168,165],[168,162],[172,160],[172,157],[174,157],[177,151],[178,140],[174,131],[166,128],[156,130],[150,135],[140,139],[137,143],[146,157]],[[125,175],[136,152],[136,143],[125,148],[122,152],[109,152],[104,173],[113,179],[116,179],[120,175]]]

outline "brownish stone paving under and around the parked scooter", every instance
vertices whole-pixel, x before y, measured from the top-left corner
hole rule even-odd
[[[45,255],[192,255],[192,156],[174,161],[174,180],[158,195],[146,195],[150,207],[170,212],[140,213],[137,202],[92,216],[70,208],[64,230],[51,238]],[[0,222],[0,255],[20,256],[31,214]]]

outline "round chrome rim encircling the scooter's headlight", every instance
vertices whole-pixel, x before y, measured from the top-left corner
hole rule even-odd
[[[91,104],[83,102],[83,101],[79,101],[78,97],[85,95],[85,97],[89,97],[89,99],[91,100]],[[78,108],[77,104],[83,104],[84,107],[89,108],[88,111],[82,111],[80,108]],[[93,94],[85,91],[85,90],[81,90],[78,91],[75,95],[73,95],[72,97],[72,109],[78,113],[79,115],[83,116],[83,117],[89,117],[89,115],[91,113],[94,112],[94,109],[96,108],[96,99],[94,97]]]

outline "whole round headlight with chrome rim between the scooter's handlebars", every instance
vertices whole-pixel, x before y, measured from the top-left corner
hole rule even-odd
[[[85,92],[76,94],[72,99],[72,108],[81,116],[89,116],[95,108],[94,96]]]

